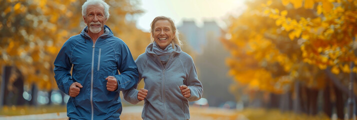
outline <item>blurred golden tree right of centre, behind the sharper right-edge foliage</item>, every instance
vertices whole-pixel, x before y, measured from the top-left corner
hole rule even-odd
[[[222,40],[231,52],[231,57],[226,60],[229,74],[248,89],[284,94],[292,92],[289,97],[295,96],[296,103],[300,104],[295,106],[305,106],[300,109],[306,113],[317,113],[317,91],[326,86],[324,72],[304,62],[299,42],[289,40],[289,32],[276,25],[279,23],[273,19],[276,14],[268,14],[280,13],[286,7],[278,0],[254,0],[246,4],[247,9],[240,16],[230,19],[230,38]],[[267,6],[273,8],[266,11]],[[315,16],[309,9],[284,12],[287,11],[293,18],[297,17],[296,14],[300,17]],[[316,77],[318,74],[322,77]]]

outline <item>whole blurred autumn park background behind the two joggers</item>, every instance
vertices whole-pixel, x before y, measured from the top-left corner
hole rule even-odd
[[[154,17],[175,20],[204,89],[191,119],[355,119],[357,0],[105,1],[134,59]],[[66,119],[53,61],[84,2],[0,0],[0,119]],[[141,118],[122,102],[121,119]]]

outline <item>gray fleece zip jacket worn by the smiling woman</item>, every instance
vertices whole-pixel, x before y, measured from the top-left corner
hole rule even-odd
[[[203,87],[197,78],[193,59],[175,44],[168,61],[162,65],[159,57],[152,50],[150,43],[135,63],[139,72],[139,81],[144,79],[147,95],[144,99],[142,119],[189,119],[188,101],[201,98]],[[191,96],[181,94],[180,85],[189,87]],[[132,104],[139,102],[136,89],[123,91],[124,99]]]

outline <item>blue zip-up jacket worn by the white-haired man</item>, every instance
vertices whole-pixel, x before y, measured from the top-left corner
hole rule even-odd
[[[113,36],[108,26],[104,26],[104,33],[94,44],[86,30],[87,26],[80,34],[70,37],[54,61],[54,78],[61,91],[68,94],[70,84],[75,81],[83,86],[77,96],[68,99],[67,116],[119,119],[122,110],[119,90],[137,84],[137,66],[127,45]],[[115,91],[106,89],[105,78],[109,75],[117,79]]]

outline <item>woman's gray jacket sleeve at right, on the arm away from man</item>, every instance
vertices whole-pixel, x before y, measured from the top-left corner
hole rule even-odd
[[[188,86],[191,92],[191,96],[189,96],[187,99],[188,101],[195,101],[201,98],[203,87],[201,82],[198,80],[196,67],[193,63],[192,57],[190,57],[190,59],[188,59],[186,62],[186,68],[187,77],[185,84]]]

